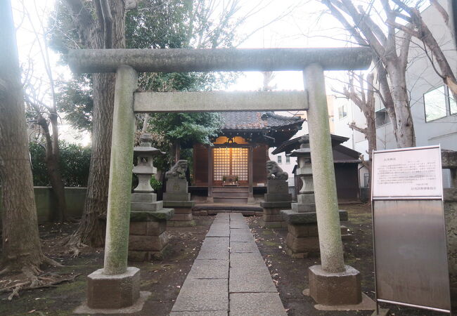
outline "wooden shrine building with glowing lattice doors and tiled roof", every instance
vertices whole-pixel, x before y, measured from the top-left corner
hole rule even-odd
[[[289,140],[302,127],[300,117],[273,112],[223,112],[221,133],[212,144],[193,145],[191,192],[210,202],[247,203],[266,187],[269,147]]]

